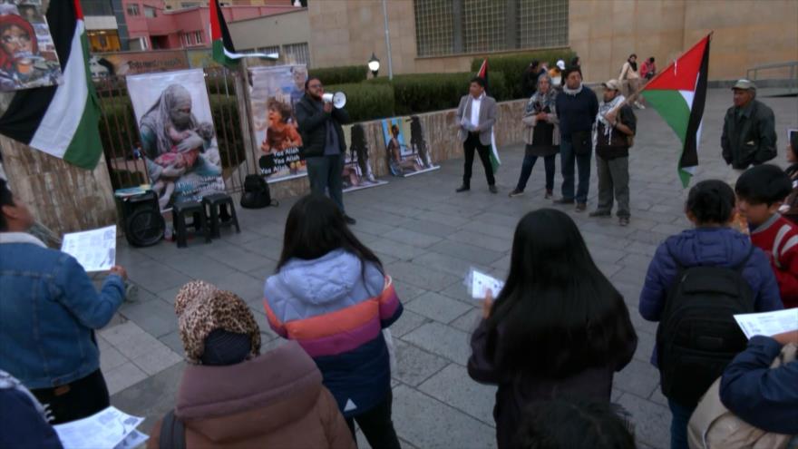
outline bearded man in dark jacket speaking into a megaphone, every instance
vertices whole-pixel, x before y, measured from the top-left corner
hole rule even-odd
[[[344,108],[334,108],[331,102],[322,99],[324,85],[315,76],[307,78],[305,96],[297,102],[295,113],[302,136],[302,156],[307,164],[307,178],[310,190],[324,195],[329,190],[330,198],[344,210],[344,184],[341,173],[344,171],[346,142],[341,124],[349,122],[349,112]],[[350,225],[355,219],[344,213]]]

